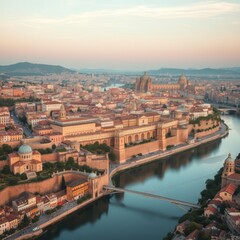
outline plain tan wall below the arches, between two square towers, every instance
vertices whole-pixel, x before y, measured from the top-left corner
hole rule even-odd
[[[139,144],[133,147],[127,147],[125,148],[125,156],[126,159],[129,159],[132,157],[132,155],[137,155],[138,153],[148,153],[159,150],[159,142],[153,141],[149,143]]]

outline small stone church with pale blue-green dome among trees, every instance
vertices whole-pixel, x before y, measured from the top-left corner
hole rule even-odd
[[[41,154],[32,150],[26,144],[23,144],[18,152],[13,152],[8,155],[9,167],[14,174],[23,174],[26,172],[42,171]]]

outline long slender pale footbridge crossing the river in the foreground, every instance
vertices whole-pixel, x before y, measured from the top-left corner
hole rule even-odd
[[[110,190],[110,191],[118,192],[118,193],[122,193],[122,192],[133,193],[133,194],[137,194],[137,195],[141,195],[141,196],[145,196],[145,197],[149,197],[149,198],[154,198],[154,199],[170,202],[172,204],[181,205],[181,206],[185,206],[185,207],[191,207],[191,208],[200,208],[201,207],[198,204],[185,202],[185,201],[181,201],[181,200],[176,200],[173,198],[163,197],[163,196],[155,195],[152,193],[139,192],[139,191],[130,190],[130,189],[126,189],[126,188],[125,189],[117,188],[117,187],[109,186],[109,185],[104,185],[103,188],[106,190]]]

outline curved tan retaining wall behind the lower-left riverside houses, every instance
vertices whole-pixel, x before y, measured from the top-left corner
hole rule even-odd
[[[73,181],[75,179],[82,178],[81,175],[77,174],[64,174],[64,178],[66,182]],[[62,183],[62,176],[54,176],[50,179],[41,181],[41,182],[33,182],[33,183],[25,183],[19,184],[16,186],[11,186],[0,191],[0,206],[8,203],[9,201],[16,199],[22,192],[28,191],[31,193],[47,193],[47,192],[56,192],[60,190]]]

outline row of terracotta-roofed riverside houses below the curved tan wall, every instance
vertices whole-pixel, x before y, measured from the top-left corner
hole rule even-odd
[[[34,219],[40,214],[61,207],[69,201],[77,200],[93,194],[92,182],[97,178],[95,173],[82,175],[80,178],[66,183],[66,188],[55,193],[38,194],[23,192],[11,201],[11,206],[0,207],[0,235],[5,231],[16,229],[24,216]]]

